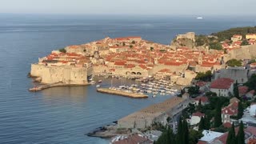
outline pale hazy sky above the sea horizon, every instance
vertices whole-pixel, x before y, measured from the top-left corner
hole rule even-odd
[[[0,0],[0,13],[40,14],[246,14],[256,0]]]

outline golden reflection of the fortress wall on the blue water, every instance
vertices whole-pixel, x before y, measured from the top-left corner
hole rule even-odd
[[[59,86],[42,90],[46,101],[66,99],[70,102],[86,102],[88,86]]]

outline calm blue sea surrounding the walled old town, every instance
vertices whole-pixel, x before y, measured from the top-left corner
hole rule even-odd
[[[142,36],[169,44],[176,34],[211,34],[230,27],[255,26],[255,20],[0,14],[0,143],[108,143],[84,134],[170,98],[123,98],[98,94],[95,86],[55,87],[30,93],[33,82],[26,78],[30,64],[51,50],[107,36]]]

